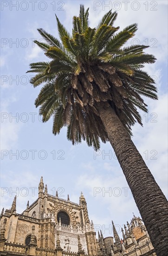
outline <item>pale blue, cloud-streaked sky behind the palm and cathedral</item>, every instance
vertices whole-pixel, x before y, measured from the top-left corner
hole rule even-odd
[[[157,58],[145,70],[155,79],[159,100],[145,99],[149,113],[141,113],[143,127],[136,124],[132,128],[132,140],[168,198],[168,2],[1,0],[0,210],[9,209],[17,195],[17,213],[22,213],[28,200],[32,204],[37,199],[43,176],[51,195],[58,190],[60,198],[67,199],[69,194],[70,201],[78,203],[82,191],[95,230],[112,236],[113,220],[121,236],[123,224],[130,222],[133,213],[140,213],[113,148],[102,143],[95,152],[85,142],[73,146],[66,139],[66,128],[54,136],[52,119],[43,123],[34,105],[41,87],[33,88],[29,83],[33,74],[26,74],[30,63],[47,60],[33,43],[42,40],[37,28],[58,38],[56,14],[71,32],[72,17],[78,15],[80,4],[90,8],[90,27],[96,27],[110,9],[118,13],[114,26],[123,29],[138,23],[129,45],[147,44],[146,52]]]

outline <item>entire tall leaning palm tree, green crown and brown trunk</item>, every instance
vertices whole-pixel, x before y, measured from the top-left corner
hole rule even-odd
[[[35,101],[46,122],[53,116],[54,135],[67,126],[72,144],[86,140],[95,150],[110,141],[132,191],[158,256],[168,255],[168,201],[131,141],[131,126],[142,125],[137,108],[147,112],[142,96],[157,99],[154,80],[142,68],[155,57],[148,46],[123,45],[135,35],[137,24],[122,31],[114,27],[117,13],[106,13],[96,28],[88,23],[89,8],[80,5],[73,17],[72,35],[57,19],[60,40],[44,29],[46,43],[35,40],[51,59],[30,64],[37,72],[31,83],[45,83]]]

